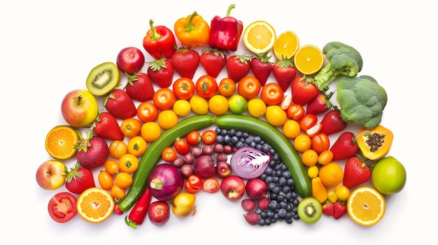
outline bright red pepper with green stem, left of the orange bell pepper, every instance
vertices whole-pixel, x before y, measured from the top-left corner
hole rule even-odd
[[[150,20],[150,29],[143,38],[143,47],[155,59],[170,59],[176,51],[176,40],[174,33],[164,26],[153,26],[154,21]]]

